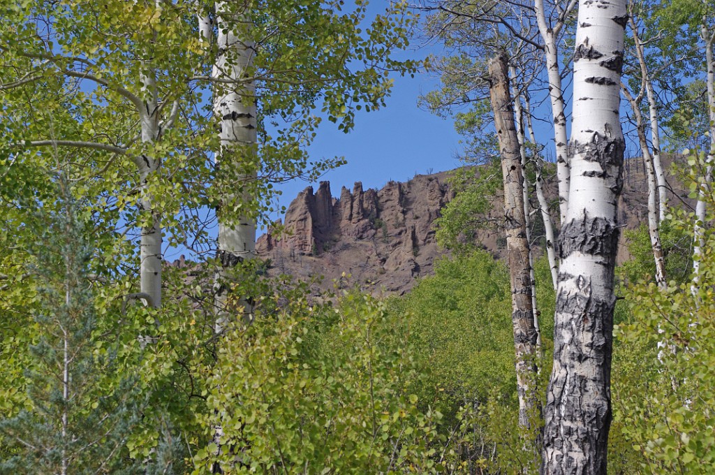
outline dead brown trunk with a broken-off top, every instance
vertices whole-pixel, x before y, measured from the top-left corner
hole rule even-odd
[[[511,319],[516,352],[519,425],[530,427],[536,400],[536,341],[531,304],[531,273],[524,225],[521,159],[509,94],[507,60],[503,55],[489,62],[490,99],[501,151],[504,180],[506,247],[511,277]]]

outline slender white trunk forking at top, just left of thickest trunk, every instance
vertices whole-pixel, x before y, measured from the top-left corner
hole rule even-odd
[[[575,1],[570,1],[566,7],[563,19],[568,16],[568,11],[573,9]],[[570,190],[571,170],[568,163],[568,134],[566,133],[566,107],[563,100],[563,88],[561,87],[561,71],[558,67],[558,46],[556,40],[558,32],[563,27],[563,19],[557,22],[556,26],[549,26],[546,22],[546,11],[543,0],[534,1],[536,10],[536,21],[539,33],[543,39],[544,56],[546,57],[546,71],[548,73],[548,97],[551,99],[551,113],[553,115],[553,133],[556,139],[556,175],[558,177],[558,209],[561,217],[561,225],[566,219],[566,207],[568,206],[568,193]]]

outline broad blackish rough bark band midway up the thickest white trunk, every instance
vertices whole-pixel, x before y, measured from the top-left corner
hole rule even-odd
[[[615,222],[603,217],[589,217],[584,210],[583,219],[572,220],[563,226],[559,236],[559,255],[564,259],[573,252],[579,252],[609,258],[616,253],[619,235]]]

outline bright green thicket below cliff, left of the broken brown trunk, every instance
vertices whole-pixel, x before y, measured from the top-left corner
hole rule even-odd
[[[536,273],[537,282],[545,284],[538,286],[537,295],[543,305],[541,361],[547,362],[555,298],[545,259],[538,260]],[[444,415],[440,434],[446,452],[453,452],[453,469],[475,473],[478,467],[490,467],[512,473],[532,463],[521,450],[516,420],[506,266],[481,250],[444,259],[435,275],[420,280],[404,298],[390,299],[389,306],[410,323],[419,368],[413,387],[423,405]],[[541,376],[548,376],[549,369],[544,367]],[[544,378],[538,385],[543,389],[545,383]]]

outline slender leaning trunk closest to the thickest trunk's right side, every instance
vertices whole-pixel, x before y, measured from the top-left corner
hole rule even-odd
[[[648,234],[651,237],[653,258],[656,263],[656,283],[660,288],[664,289],[668,286],[668,283],[666,280],[666,265],[663,259],[663,247],[661,246],[661,233],[658,227],[658,183],[656,180],[655,167],[653,166],[653,156],[651,155],[648,147],[648,141],[646,139],[646,124],[638,104],[643,97],[641,94],[634,98],[631,95],[631,92],[628,91],[626,84],[621,84],[621,90],[623,90],[623,96],[625,96],[631,104],[633,117],[636,118],[638,142],[641,144],[643,161],[646,164],[646,174],[648,180]]]

